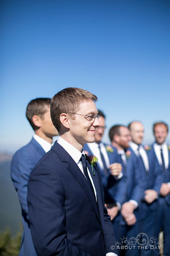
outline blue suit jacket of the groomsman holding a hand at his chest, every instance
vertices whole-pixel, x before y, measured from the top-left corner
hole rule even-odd
[[[106,144],[104,145],[107,148],[108,145]],[[117,149],[115,147],[112,147],[111,145],[109,145],[109,147],[112,149],[107,151],[109,163],[110,164],[121,163],[121,157],[117,153]],[[84,145],[83,150],[87,151],[89,155],[94,154],[93,152],[91,152],[87,144]],[[102,183],[103,183],[104,194],[105,194],[105,203],[116,204],[116,202],[119,202],[120,205],[122,205],[126,197],[126,181],[127,181],[127,177],[124,173],[124,170],[122,171],[123,177],[121,177],[121,179],[117,179],[110,174],[109,169],[108,169],[107,176],[105,176],[101,168],[99,169],[102,175]],[[117,217],[118,215],[114,218],[114,221],[118,221]]]

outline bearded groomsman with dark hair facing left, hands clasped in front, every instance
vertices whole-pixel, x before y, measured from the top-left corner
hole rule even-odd
[[[122,205],[119,218],[114,221],[115,236],[119,243],[123,244],[123,237],[127,236],[128,242],[131,237],[137,237],[140,224],[140,205],[144,191],[139,161],[132,149],[129,148],[130,131],[124,125],[112,126],[109,131],[111,144],[117,148],[121,156],[124,175],[127,176],[126,198]],[[121,216],[122,215],[122,216]],[[127,245],[124,244],[124,246]],[[137,247],[118,250],[119,255],[139,255]]]

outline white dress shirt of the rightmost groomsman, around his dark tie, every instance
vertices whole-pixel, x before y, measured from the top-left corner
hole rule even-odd
[[[162,153],[163,153],[163,156],[164,156],[165,169],[167,169],[168,168],[168,164],[169,164],[169,156],[168,156],[167,143],[164,142],[164,144],[158,145],[155,142],[153,147],[154,147],[155,154],[156,154],[156,157],[157,157],[158,162],[159,162],[160,165],[162,165],[162,158],[161,158],[161,149],[162,149]]]

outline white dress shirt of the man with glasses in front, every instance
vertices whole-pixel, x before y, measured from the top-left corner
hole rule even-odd
[[[84,154],[84,152],[81,153],[78,149],[74,148],[73,145],[71,145],[70,143],[68,143],[64,139],[62,139],[60,136],[59,136],[59,139],[57,140],[57,142],[65,149],[65,151],[68,152],[68,154],[73,158],[73,160],[76,162],[76,164],[80,168],[81,172],[83,173],[83,166],[82,166],[82,163],[80,161],[80,158],[81,158],[81,155]],[[92,177],[90,175],[90,172],[89,172],[88,168],[87,168],[87,171],[88,171],[88,175],[90,177],[90,180],[91,180],[91,183],[93,185],[94,192],[95,192],[95,196],[96,196],[96,189],[95,189],[95,186],[94,186],[94,183],[93,183],[93,180],[92,180]],[[83,175],[84,175],[84,173],[83,173]],[[96,196],[96,201],[97,201],[97,196]],[[117,254],[115,254],[115,253],[106,253],[106,256],[117,256]]]

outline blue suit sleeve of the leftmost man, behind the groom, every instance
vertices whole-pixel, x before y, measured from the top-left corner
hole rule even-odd
[[[25,216],[28,219],[27,183],[30,172],[34,168],[34,160],[25,152],[16,152],[11,162],[11,178]]]

